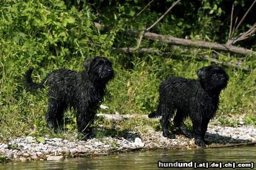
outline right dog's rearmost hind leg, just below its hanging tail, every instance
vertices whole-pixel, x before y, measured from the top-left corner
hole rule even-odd
[[[170,109],[170,106],[159,104],[157,112],[161,112],[160,114],[162,115],[160,122],[162,125],[163,136],[170,139],[174,139],[175,135],[172,134],[169,130],[170,118],[174,114],[174,110]]]

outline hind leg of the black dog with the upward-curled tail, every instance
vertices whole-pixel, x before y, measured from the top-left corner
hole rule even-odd
[[[46,121],[49,128],[56,132],[63,128],[64,111],[67,106],[59,101],[49,98],[48,112],[46,113]]]

